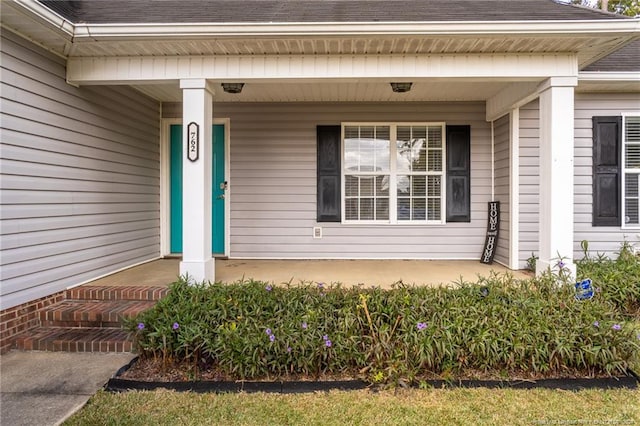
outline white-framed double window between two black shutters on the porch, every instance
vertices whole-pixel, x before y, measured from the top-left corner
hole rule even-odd
[[[345,222],[444,223],[444,123],[345,123]]]

